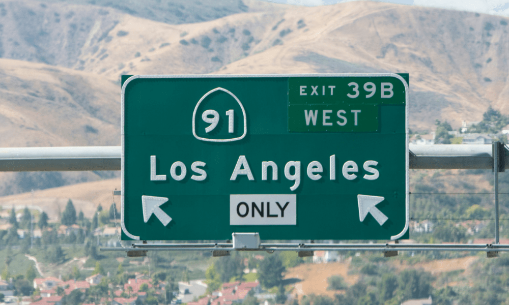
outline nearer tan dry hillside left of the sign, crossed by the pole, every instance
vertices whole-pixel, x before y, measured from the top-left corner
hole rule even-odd
[[[120,88],[96,74],[0,59],[0,147],[120,145]],[[0,173],[0,194],[112,177]]]

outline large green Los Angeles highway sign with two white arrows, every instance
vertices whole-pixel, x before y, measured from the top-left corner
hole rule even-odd
[[[408,237],[408,75],[125,76],[122,239]]]

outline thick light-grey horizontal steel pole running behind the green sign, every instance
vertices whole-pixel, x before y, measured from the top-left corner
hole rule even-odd
[[[492,145],[412,145],[412,169],[491,169]],[[506,168],[507,164],[505,165]],[[120,146],[0,148],[0,171],[120,170]]]

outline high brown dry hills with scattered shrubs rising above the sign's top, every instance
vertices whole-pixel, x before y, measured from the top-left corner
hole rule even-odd
[[[413,129],[431,129],[436,118],[457,128],[479,120],[489,104],[509,113],[507,18],[377,2],[246,4],[257,11],[171,25],[100,6],[7,1],[0,53],[114,81],[122,74],[407,72]]]

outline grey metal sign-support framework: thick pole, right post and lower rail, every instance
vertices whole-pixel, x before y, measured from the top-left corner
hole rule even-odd
[[[500,149],[496,149],[498,147]],[[509,151],[500,142],[493,145],[410,145],[411,169],[493,169],[495,172],[495,208],[498,207],[498,172],[509,167]],[[121,170],[120,146],[23,147],[0,148],[0,171],[87,171]],[[498,243],[498,213],[495,243],[492,245],[441,244],[315,244],[261,243],[253,251],[484,251],[488,257],[509,252],[509,245]],[[145,250],[200,250],[229,253],[231,243],[133,243],[129,248],[101,248],[108,251],[143,252]],[[131,253],[132,254],[132,253]],[[136,255],[139,255],[136,253]],[[135,255],[135,256],[136,256]],[[392,256],[392,254],[391,254]]]

